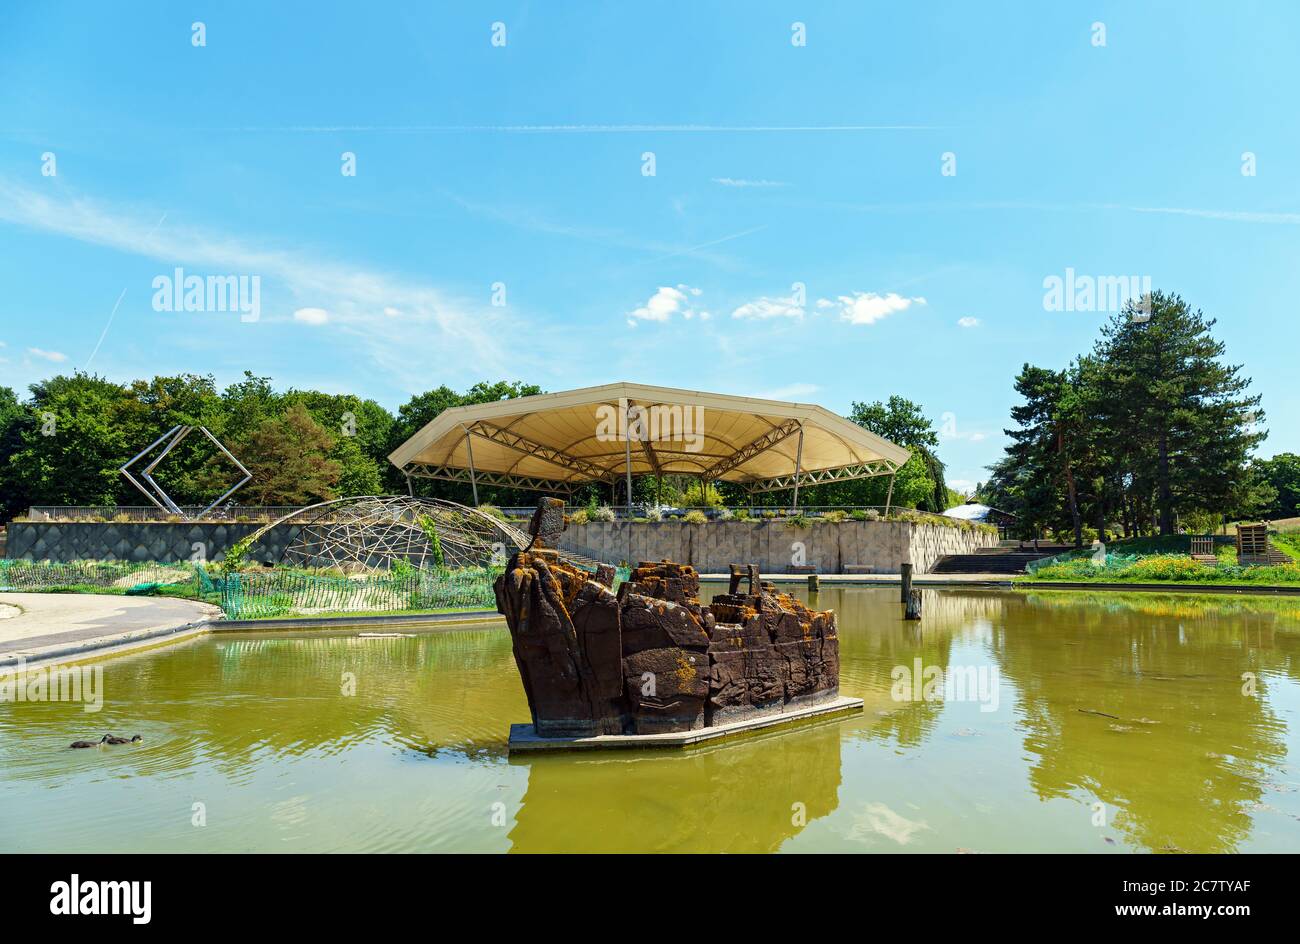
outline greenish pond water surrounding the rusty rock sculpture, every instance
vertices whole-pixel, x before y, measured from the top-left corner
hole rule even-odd
[[[98,714],[0,705],[0,849],[1300,849],[1300,599],[897,593],[816,599],[862,715],[684,753],[508,758],[503,628],[105,662]],[[900,700],[916,659],[985,684]]]

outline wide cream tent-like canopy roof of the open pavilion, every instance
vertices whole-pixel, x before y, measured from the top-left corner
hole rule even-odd
[[[416,477],[569,494],[616,481],[629,458],[633,476],[772,492],[892,475],[909,455],[810,403],[608,384],[451,407],[389,460]]]

